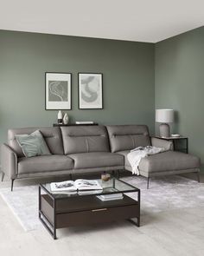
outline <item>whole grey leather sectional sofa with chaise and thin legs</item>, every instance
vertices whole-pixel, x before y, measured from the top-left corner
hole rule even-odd
[[[26,158],[15,135],[41,131],[51,155]],[[127,154],[138,146],[153,145],[168,151],[140,161],[140,174],[149,179],[163,174],[199,173],[200,160],[191,154],[172,151],[169,141],[151,138],[144,125],[68,126],[54,128],[16,128],[8,131],[8,144],[1,147],[2,173],[11,180],[129,170]],[[3,179],[2,179],[3,181]]]

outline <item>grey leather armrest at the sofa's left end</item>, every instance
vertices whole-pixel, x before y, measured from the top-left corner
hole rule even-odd
[[[15,179],[17,174],[17,155],[7,144],[1,145],[1,168],[10,179]]]

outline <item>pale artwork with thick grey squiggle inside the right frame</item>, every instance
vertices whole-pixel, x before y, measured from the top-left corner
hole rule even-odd
[[[99,77],[89,75],[81,78],[81,99],[84,102],[99,102]]]

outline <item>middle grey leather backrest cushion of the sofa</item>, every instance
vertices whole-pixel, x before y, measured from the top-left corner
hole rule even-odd
[[[61,127],[61,134],[65,154],[110,151],[104,126]]]

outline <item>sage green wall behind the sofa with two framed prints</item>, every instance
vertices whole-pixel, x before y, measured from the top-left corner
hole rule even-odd
[[[147,124],[154,132],[154,44],[0,30],[0,143],[8,128],[52,126],[46,71],[71,72],[71,121]],[[104,109],[78,109],[78,72],[104,78]]]

